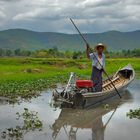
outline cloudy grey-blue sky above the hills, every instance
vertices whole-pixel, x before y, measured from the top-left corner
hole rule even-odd
[[[0,30],[76,33],[140,29],[140,0],[0,0]]]

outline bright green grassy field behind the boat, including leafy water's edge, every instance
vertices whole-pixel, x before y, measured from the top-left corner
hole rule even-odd
[[[132,64],[140,75],[140,58],[107,59],[106,71],[112,74]],[[56,83],[66,82],[70,72],[90,78],[91,62],[87,59],[0,58],[0,96],[31,98]]]

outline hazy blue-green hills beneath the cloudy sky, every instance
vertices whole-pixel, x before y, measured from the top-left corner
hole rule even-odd
[[[109,50],[140,48],[140,30],[132,32],[108,31],[84,34],[91,46],[104,43]],[[0,31],[0,48],[38,50],[51,47],[60,50],[84,50],[85,44],[78,34],[34,32],[24,29]]]

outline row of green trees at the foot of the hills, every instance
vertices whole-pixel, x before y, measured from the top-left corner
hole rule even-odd
[[[72,58],[80,59],[86,57],[85,51],[59,51],[57,47],[42,50],[0,49],[0,57],[36,57],[36,58]],[[140,49],[105,51],[107,58],[140,57]]]

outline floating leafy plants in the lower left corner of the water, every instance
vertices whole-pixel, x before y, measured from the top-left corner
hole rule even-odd
[[[15,128],[7,128],[3,131],[2,138],[3,139],[16,139],[20,140],[23,138],[24,134],[34,131],[34,130],[42,130],[43,123],[38,118],[38,112],[29,111],[27,108],[24,108],[24,112],[20,114],[16,113],[17,120],[23,120],[23,126],[16,126]]]

